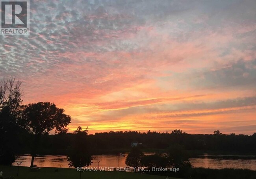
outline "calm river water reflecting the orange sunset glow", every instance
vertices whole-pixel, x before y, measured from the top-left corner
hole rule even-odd
[[[204,168],[245,168],[250,170],[256,170],[256,156],[254,159],[243,159],[247,156],[234,156],[241,157],[241,159],[223,159],[224,155],[204,155],[201,158],[190,159],[191,164],[194,167],[204,167]],[[125,167],[125,158],[118,157],[116,155],[95,155],[93,159],[92,167],[98,166],[98,161],[100,167]],[[220,157],[220,158],[214,158]],[[13,165],[17,165],[16,162],[22,162],[21,166],[30,166],[31,155],[19,155]],[[118,159],[119,158],[119,159]],[[119,161],[118,161],[119,160]],[[69,168],[69,162],[65,155],[45,155],[38,156],[35,158],[34,164],[40,167],[61,167]]]

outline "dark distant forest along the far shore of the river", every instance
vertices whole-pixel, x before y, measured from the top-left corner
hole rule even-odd
[[[67,149],[74,140],[72,133],[59,133],[56,135],[44,134],[39,144],[38,155],[66,155]],[[19,148],[16,154],[30,154],[33,135],[26,131],[19,135]],[[256,153],[256,133],[248,135],[221,134],[215,131],[214,134],[187,134],[180,130],[172,133],[151,132],[141,133],[137,131],[110,131],[105,133],[95,133],[88,136],[88,143],[93,149],[94,155],[114,154],[118,152],[128,152],[131,142],[141,143],[144,151],[165,151],[173,144],[181,144],[187,150],[193,151],[216,151],[223,153]]]

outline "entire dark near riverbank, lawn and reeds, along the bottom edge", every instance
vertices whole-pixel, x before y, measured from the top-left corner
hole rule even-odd
[[[30,167],[19,167],[19,177],[17,177],[18,166],[0,166],[3,172],[3,179],[79,179],[79,172],[74,168],[52,168],[43,167],[41,170],[31,172]],[[184,178],[191,179],[256,179],[256,171],[245,169],[210,169],[210,168],[191,168],[183,173]],[[100,172],[86,171],[82,172],[82,179],[166,179],[170,173],[157,173],[158,175],[149,175],[132,172]],[[163,176],[161,176],[161,174]],[[178,173],[173,173],[169,179],[180,179],[174,177]]]

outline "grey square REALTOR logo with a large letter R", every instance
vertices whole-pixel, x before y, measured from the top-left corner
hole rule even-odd
[[[0,35],[29,35],[30,1],[0,0]]]

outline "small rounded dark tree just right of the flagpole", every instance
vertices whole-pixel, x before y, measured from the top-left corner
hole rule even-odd
[[[136,172],[137,168],[141,166],[141,159],[144,156],[143,152],[137,147],[133,147],[125,160],[125,164],[134,168]]]

